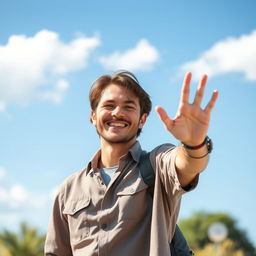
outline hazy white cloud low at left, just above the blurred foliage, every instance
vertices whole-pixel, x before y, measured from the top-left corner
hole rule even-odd
[[[22,221],[27,221],[45,230],[57,190],[36,192],[18,183],[0,184],[0,219],[4,220],[0,229],[16,230]]]

